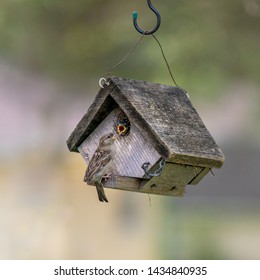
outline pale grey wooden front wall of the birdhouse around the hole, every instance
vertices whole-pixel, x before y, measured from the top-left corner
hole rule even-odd
[[[113,109],[80,145],[79,151],[87,164],[98,147],[99,139],[105,134],[115,133],[114,122],[120,111],[119,107]],[[151,165],[154,165],[160,158],[149,139],[145,139],[132,123],[129,135],[119,137],[115,141],[114,147],[114,158],[110,171],[114,175],[142,178],[144,176],[142,164],[150,162]]]

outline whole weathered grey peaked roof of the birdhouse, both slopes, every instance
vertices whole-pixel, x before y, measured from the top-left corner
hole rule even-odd
[[[109,86],[100,89],[70,135],[69,150],[78,151],[78,146],[116,106],[152,140],[165,160],[210,168],[223,164],[222,151],[183,89],[120,77],[112,77]]]

